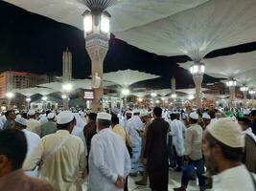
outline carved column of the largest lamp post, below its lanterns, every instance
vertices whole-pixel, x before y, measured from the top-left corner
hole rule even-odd
[[[103,69],[105,54],[108,51],[108,39],[97,34],[88,36],[86,40],[86,50],[91,58],[91,74],[92,77],[98,75],[101,77],[101,85],[99,88],[93,89],[94,99],[92,101],[92,111],[98,112],[102,110],[101,99],[104,95],[103,89]]]

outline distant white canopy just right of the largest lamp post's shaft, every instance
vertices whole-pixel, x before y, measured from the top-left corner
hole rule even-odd
[[[128,88],[128,86],[131,84],[137,83],[139,81],[154,79],[157,77],[160,76],[139,71],[132,71],[129,69],[125,71],[117,71],[104,74],[104,80],[114,82],[124,88]]]

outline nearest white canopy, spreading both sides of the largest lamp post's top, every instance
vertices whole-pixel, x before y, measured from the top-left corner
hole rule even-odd
[[[5,0],[27,11],[32,11],[75,26],[82,30],[81,14],[87,8],[85,0]],[[106,1],[106,0],[102,0]],[[120,32],[185,11],[207,0],[116,0],[108,8],[111,31]],[[98,0],[100,2],[100,0]]]

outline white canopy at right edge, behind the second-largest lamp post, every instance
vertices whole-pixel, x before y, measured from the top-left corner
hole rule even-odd
[[[239,84],[256,86],[256,52],[235,53],[201,60],[205,64],[205,74],[217,78],[235,78]],[[194,62],[180,63],[189,70]]]

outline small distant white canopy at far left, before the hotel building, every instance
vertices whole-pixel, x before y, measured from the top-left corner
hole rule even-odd
[[[41,95],[41,96],[47,96],[47,95],[56,93],[58,91],[54,90],[54,89],[50,89],[50,88],[43,88],[43,87],[37,88],[36,87],[36,88],[27,88],[27,89],[15,89],[15,90],[13,90],[13,92],[21,94],[23,96],[30,97],[30,96],[34,96],[37,94]]]

